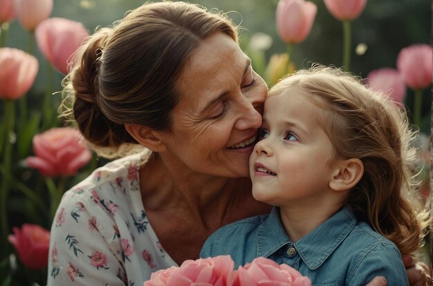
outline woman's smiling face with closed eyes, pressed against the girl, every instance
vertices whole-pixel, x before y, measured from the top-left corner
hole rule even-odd
[[[239,45],[223,33],[205,39],[176,88],[181,100],[162,136],[167,152],[195,172],[248,177],[268,88]]]

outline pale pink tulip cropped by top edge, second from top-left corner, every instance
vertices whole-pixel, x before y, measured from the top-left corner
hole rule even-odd
[[[52,11],[53,0],[15,0],[15,12],[19,22],[30,31],[50,17]]]

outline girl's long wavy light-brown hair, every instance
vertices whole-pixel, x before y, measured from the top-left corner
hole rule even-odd
[[[428,216],[416,192],[416,134],[405,109],[355,76],[330,67],[297,71],[269,96],[288,87],[305,91],[330,111],[320,122],[338,156],[364,164],[364,175],[347,198],[358,220],[368,222],[403,254],[421,247]]]

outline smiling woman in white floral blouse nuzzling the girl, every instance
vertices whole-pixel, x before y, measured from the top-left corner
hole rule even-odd
[[[113,161],[64,195],[48,285],[141,285],[198,258],[220,226],[270,211],[248,179],[267,88],[226,17],[145,4],[95,33],[75,63],[65,93],[86,141],[105,156],[151,152]]]

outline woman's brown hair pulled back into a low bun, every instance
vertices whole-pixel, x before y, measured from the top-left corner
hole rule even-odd
[[[145,3],[113,27],[102,28],[79,48],[64,80],[66,102],[93,148],[118,156],[135,144],[125,123],[169,129],[179,94],[175,82],[203,40],[222,32],[237,42],[228,17],[184,2]],[[108,152],[107,152],[108,151]]]

